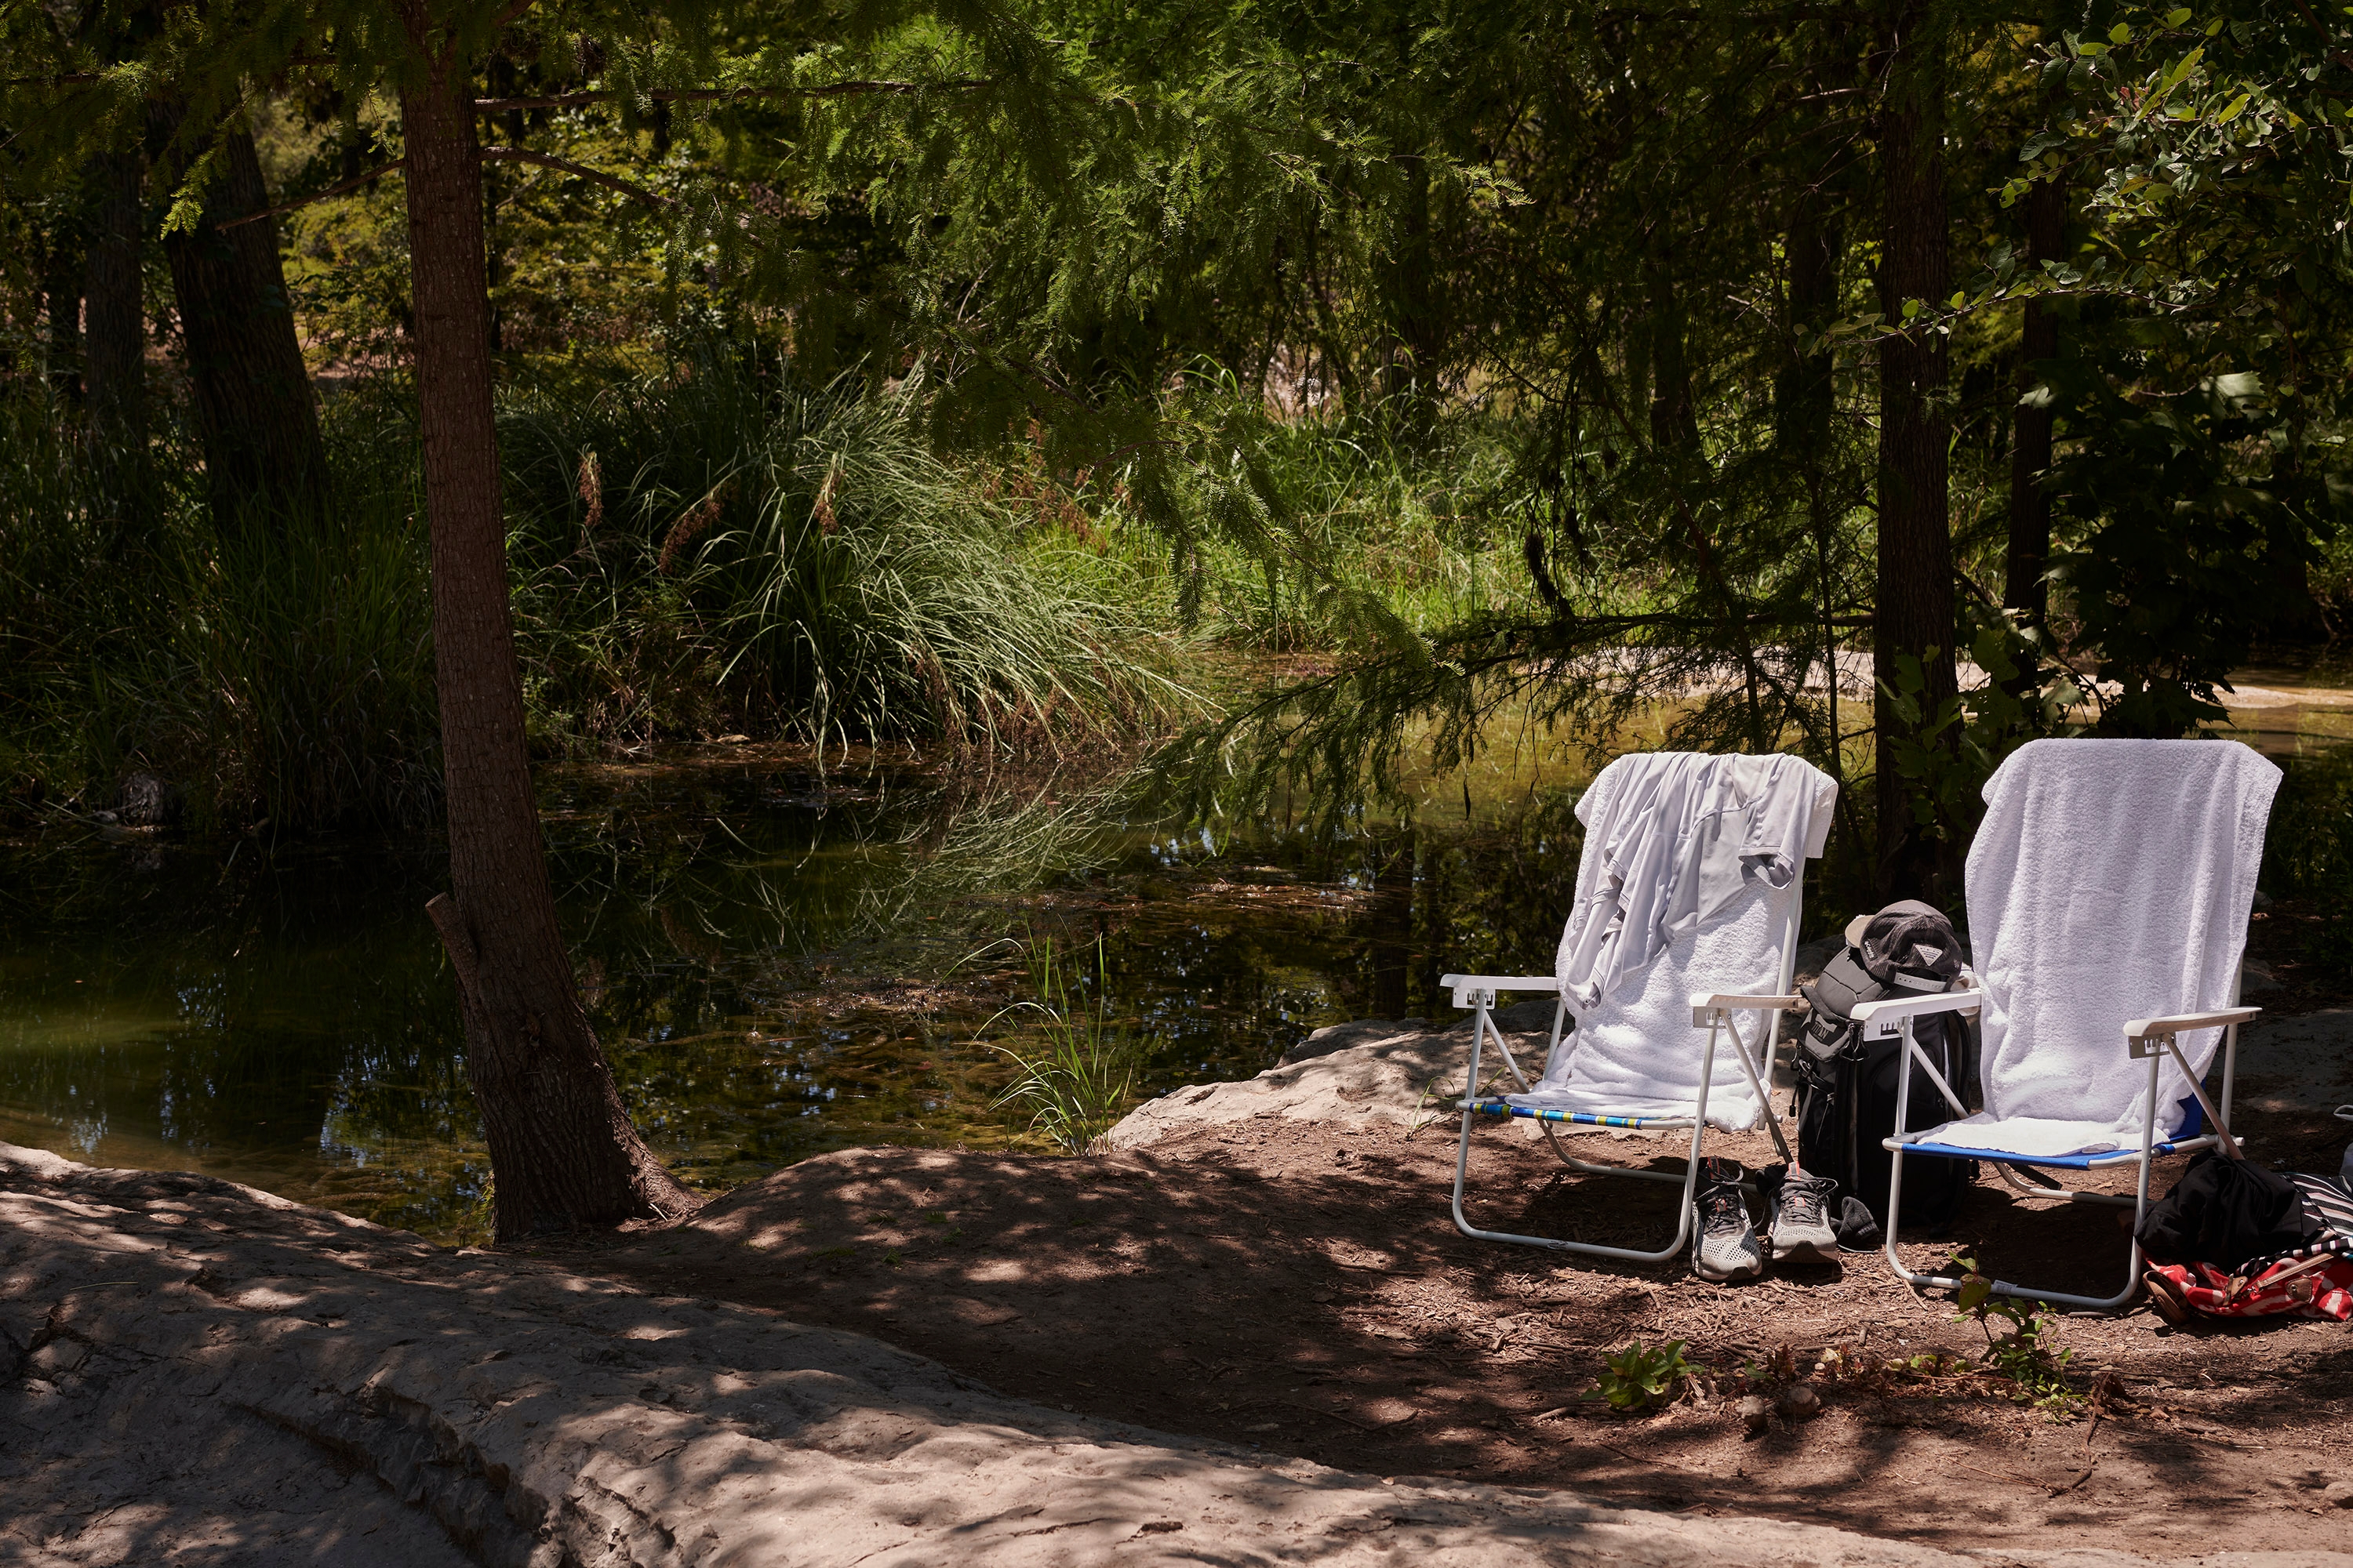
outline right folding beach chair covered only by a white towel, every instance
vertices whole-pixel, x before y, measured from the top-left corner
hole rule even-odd
[[[1897,1126],[1915,1063],[1955,1114],[1885,1140],[1887,1267],[1899,1279],[1960,1284],[1915,1274],[1897,1253],[1906,1159],[1991,1161],[2031,1197],[2132,1208],[2137,1232],[2153,1159],[2217,1145],[2240,1157],[2238,1025],[2261,1009],[2238,1006],[2238,971],[2278,785],[2280,769],[2235,741],[2031,741],[1986,780],[1967,865],[1977,990],[1854,1011],[1873,1039],[1904,1037]],[[1913,1044],[1913,1020],[1977,1006],[1986,1110],[1972,1117]],[[2217,1048],[2221,1105],[2202,1081]],[[2129,1199],[2040,1175],[2127,1164],[2139,1166]],[[2115,1309],[2141,1288],[2141,1246],[2132,1241],[2115,1295],[1993,1288]]]

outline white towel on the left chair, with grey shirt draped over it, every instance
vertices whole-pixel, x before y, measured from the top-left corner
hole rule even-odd
[[[1605,766],[1577,802],[1586,849],[1555,969],[1577,1030],[1511,1103],[1689,1117],[1706,1056],[1692,992],[1788,980],[1798,872],[1821,856],[1835,802],[1838,780],[1800,757],[1645,752]],[[1758,1041],[1767,1018],[1741,1013],[1741,1034]],[[1762,1114],[1720,1039],[1708,1121],[1746,1131]]]

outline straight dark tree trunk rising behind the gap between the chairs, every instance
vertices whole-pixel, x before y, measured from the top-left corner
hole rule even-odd
[[[1885,237],[1880,308],[1901,327],[1904,301],[1927,310],[1951,292],[1944,190],[1944,61],[1922,0],[1897,0],[1882,14],[1887,96],[1880,106],[1880,176]],[[1897,656],[1922,661],[1934,712],[1958,689],[1953,675],[1953,529],[1946,510],[1951,416],[1944,386],[1951,353],[1944,334],[1904,331],[1880,348],[1880,559],[1873,604],[1873,675],[1894,686]],[[1934,658],[1929,656],[1934,649]],[[1939,853],[1913,823],[1894,743],[1911,738],[1885,689],[1873,710],[1878,738],[1878,865],[1889,898],[1937,896]],[[1951,844],[1946,844],[1951,851]]]

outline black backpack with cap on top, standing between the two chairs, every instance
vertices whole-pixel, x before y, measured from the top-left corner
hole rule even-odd
[[[1854,1009],[1908,992],[1946,992],[1960,978],[1960,938],[1934,907],[1892,903],[1864,922],[1852,940],[1802,987],[1809,1004],[1798,1032],[1798,1164],[1807,1175],[1838,1180],[1831,1206],[1842,1246],[1880,1244],[1887,1225],[1887,1178],[1894,1157],[1880,1147],[1897,1131],[1897,1072],[1904,1039],[1864,1039]],[[1927,1013],[1913,1037],[1937,1063],[1953,1093],[1977,1095],[1977,1051],[1960,1013]],[[1906,1133],[1953,1121],[1937,1084],[1913,1063]],[[1974,1159],[1911,1159],[1904,1164],[1904,1229],[1941,1234],[1960,1213],[1960,1194],[1977,1180]]]

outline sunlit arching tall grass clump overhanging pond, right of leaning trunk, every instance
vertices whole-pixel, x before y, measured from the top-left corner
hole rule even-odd
[[[805,386],[715,343],[576,386],[504,407],[546,741],[1061,745],[1188,701],[1111,567],[1026,541],[925,447],[920,386]]]

